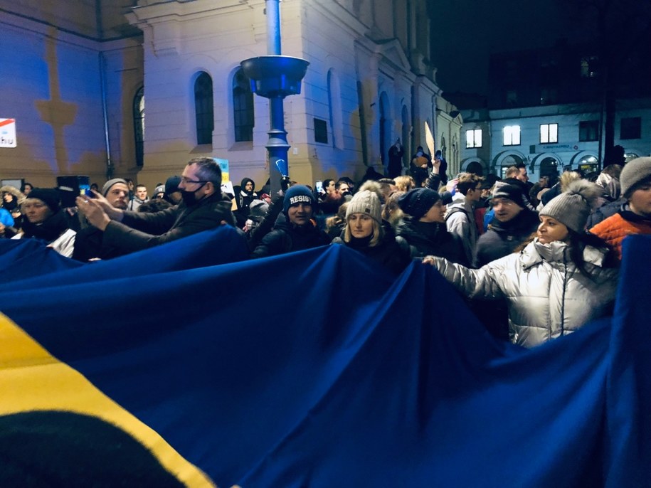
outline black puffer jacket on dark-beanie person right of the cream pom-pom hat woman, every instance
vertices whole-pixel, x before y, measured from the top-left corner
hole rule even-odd
[[[396,235],[407,241],[412,258],[433,255],[462,265],[468,264],[461,244],[448,232],[444,223],[420,222],[405,216],[396,226]]]

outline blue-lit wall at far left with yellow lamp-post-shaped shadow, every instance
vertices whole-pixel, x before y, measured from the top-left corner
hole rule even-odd
[[[6,12],[0,26],[0,117],[16,120],[17,144],[0,148],[1,178],[26,179],[38,186],[54,186],[56,176],[71,174],[103,181],[107,150],[102,80],[112,115],[113,164],[116,171],[132,171],[125,152],[133,143],[122,140],[119,123],[125,124],[128,108],[122,100],[125,85],[142,80],[139,43],[129,38],[106,44]]]

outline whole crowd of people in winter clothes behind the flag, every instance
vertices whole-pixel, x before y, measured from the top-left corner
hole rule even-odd
[[[229,225],[251,258],[344,245],[398,275],[413,260],[435,267],[495,336],[531,347],[609,313],[622,241],[651,234],[651,157],[589,177],[529,182],[461,173],[418,148],[411,174],[368,171],[318,189],[290,182],[271,196],[245,178],[222,191],[211,158],[147,188],[110,179],[62,208],[58,189],[3,186],[0,235],[33,238],[80,261],[107,260]]]

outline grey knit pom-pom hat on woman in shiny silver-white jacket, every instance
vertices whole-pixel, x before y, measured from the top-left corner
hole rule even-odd
[[[539,215],[555,218],[568,229],[583,233],[600,193],[600,187],[588,180],[573,181],[567,191],[552,198]]]

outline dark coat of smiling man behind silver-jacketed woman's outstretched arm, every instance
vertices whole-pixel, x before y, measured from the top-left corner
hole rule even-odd
[[[511,254],[536,231],[538,225],[538,213],[526,208],[508,222],[500,222],[494,218],[487,232],[477,240],[475,267],[482,267]]]

